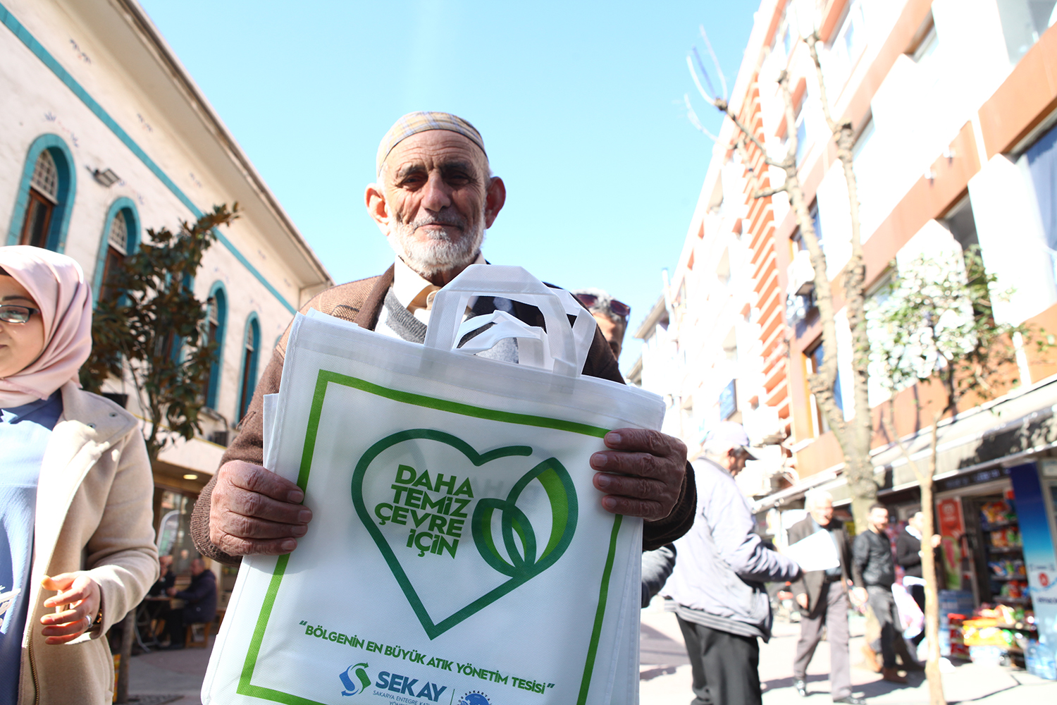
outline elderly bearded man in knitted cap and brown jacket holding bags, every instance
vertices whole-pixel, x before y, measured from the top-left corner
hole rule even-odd
[[[493,177],[481,134],[448,113],[410,113],[378,147],[377,181],[367,186],[367,211],[396,253],[385,274],[330,289],[302,309],[351,320],[384,335],[422,342],[435,292],[470,264],[484,262],[481,243],[503,207],[506,187]],[[505,310],[543,327],[539,311],[479,297],[468,315]],[[262,400],[279,391],[288,334],[257,385],[249,410],[217,475],[194,507],[191,533],[205,555],[235,563],[248,554],[284,554],[309,531],[312,509],[300,488],[261,467]],[[516,360],[516,348],[493,352]],[[497,352],[498,351],[498,352]],[[623,382],[596,331],[583,373]],[[350,420],[355,432],[355,420]],[[601,506],[646,520],[643,542],[654,549],[693,522],[692,470],[686,447],[657,431],[617,429],[591,457]]]

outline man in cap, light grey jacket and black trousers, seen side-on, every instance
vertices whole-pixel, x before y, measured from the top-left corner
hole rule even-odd
[[[764,546],[734,476],[754,457],[741,424],[718,424],[694,461],[698,514],[675,542],[663,594],[674,604],[693,674],[692,705],[761,702],[760,644],[771,638],[764,582],[795,580],[800,568]]]

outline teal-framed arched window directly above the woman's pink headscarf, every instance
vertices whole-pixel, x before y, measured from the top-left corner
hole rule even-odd
[[[22,169],[7,244],[62,252],[75,181],[66,143],[54,134],[37,137]]]

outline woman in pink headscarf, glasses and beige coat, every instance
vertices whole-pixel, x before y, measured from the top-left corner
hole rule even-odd
[[[91,329],[74,260],[0,247],[3,703],[109,703],[113,665],[99,637],[157,576],[136,420],[77,382]]]

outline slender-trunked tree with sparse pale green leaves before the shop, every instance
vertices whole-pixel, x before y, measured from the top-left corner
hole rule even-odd
[[[894,265],[894,263],[893,263]],[[937,466],[938,426],[957,414],[966,396],[977,401],[995,396],[1017,369],[1018,340],[1039,350],[1049,347],[1031,326],[995,320],[994,302],[1008,300],[1013,291],[998,292],[996,277],[984,268],[978,247],[963,257],[919,256],[879,292],[868,308],[872,345],[870,376],[888,389],[886,430],[903,451],[921,485],[922,571],[925,576],[925,667],[931,705],[946,703],[940,676],[940,611],[935,560],[930,544],[934,534],[932,482]],[[1024,345],[1024,344],[1022,344]],[[1017,379],[1012,378],[1013,384]],[[939,385],[941,405],[932,411],[928,461],[923,469],[895,429],[895,394],[917,383]]]

